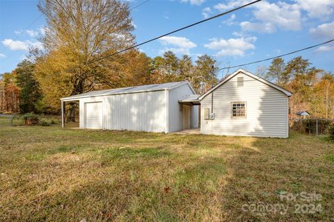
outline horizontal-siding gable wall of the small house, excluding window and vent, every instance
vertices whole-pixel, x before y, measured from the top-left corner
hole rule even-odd
[[[237,78],[244,86],[237,87]],[[201,101],[201,111],[211,112],[212,94]],[[231,102],[245,101],[246,118],[231,119]],[[245,74],[238,74],[214,90],[214,120],[201,117],[201,133],[257,137],[288,136],[288,97],[283,92]],[[203,113],[203,112],[202,112]]]

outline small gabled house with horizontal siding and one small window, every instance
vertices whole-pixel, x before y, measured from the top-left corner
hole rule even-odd
[[[238,69],[199,96],[200,133],[287,138],[289,96],[286,89]]]

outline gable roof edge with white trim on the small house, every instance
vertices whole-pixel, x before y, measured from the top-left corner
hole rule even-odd
[[[202,94],[200,97],[198,97],[198,99],[199,100],[204,99],[205,96],[207,96],[208,94],[210,94],[211,92],[213,92],[215,89],[217,89],[218,87],[220,87],[221,85],[223,85],[224,83],[226,83],[228,80],[230,80],[234,76],[237,76],[237,74],[240,74],[240,73],[245,74],[247,76],[250,76],[251,78],[254,78],[255,80],[258,80],[261,83],[269,85],[269,86],[271,86],[271,87],[279,90],[280,92],[283,92],[287,96],[292,96],[292,92],[289,92],[287,89],[283,89],[283,87],[280,87],[280,86],[278,86],[278,85],[276,85],[274,83],[271,83],[268,80],[266,80],[264,78],[261,78],[260,76],[256,76],[256,75],[250,73],[249,71],[246,71],[245,69],[238,69],[237,71],[234,71],[230,76],[228,76],[228,78],[224,78],[217,85],[215,85],[214,87],[212,87],[211,89],[209,89],[207,92],[205,92],[204,94]]]

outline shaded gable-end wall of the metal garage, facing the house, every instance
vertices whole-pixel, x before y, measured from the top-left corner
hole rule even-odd
[[[193,91],[190,89],[189,85],[182,85],[174,89],[168,90],[168,133],[177,132],[182,130],[182,105],[179,103],[179,99],[186,95],[192,95]],[[195,111],[194,111],[195,112]],[[198,115],[193,116],[198,121]],[[196,120],[194,120],[196,122]]]

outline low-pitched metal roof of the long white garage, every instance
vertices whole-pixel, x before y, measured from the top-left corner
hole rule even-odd
[[[193,88],[187,81],[182,82],[175,82],[175,83],[161,83],[161,84],[151,84],[151,85],[140,85],[134,87],[124,87],[124,88],[117,88],[117,89],[106,89],[106,90],[97,90],[92,92],[86,92],[83,94],[77,94],[74,96],[68,96],[62,98],[63,101],[71,101],[75,99],[80,99],[84,97],[90,96],[107,96],[107,95],[114,95],[114,94],[129,94],[129,93],[137,93],[137,92],[152,92],[152,91],[160,91],[165,89],[173,89],[176,87],[180,87],[181,85],[188,84],[190,89]]]

